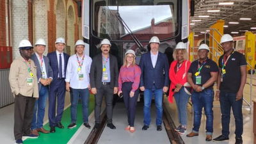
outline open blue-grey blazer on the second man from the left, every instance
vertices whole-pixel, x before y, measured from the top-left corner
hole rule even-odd
[[[52,72],[52,68],[50,66],[49,58],[47,56],[43,56],[43,58],[44,58],[44,64],[45,64],[45,69],[46,69],[45,72],[47,74],[47,77],[52,77],[52,79],[53,79],[53,72]],[[37,81],[39,81],[39,79],[42,78],[42,70],[41,70],[41,65],[40,65],[35,53],[32,54],[31,60],[34,61],[35,66],[37,67],[36,68],[36,76],[37,76]],[[38,83],[39,91],[41,90],[41,86],[42,86],[42,83],[39,82]]]

